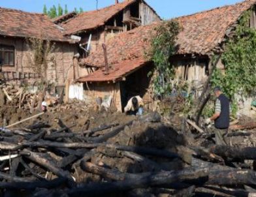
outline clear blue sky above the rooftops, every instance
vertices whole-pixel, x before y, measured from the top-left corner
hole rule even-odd
[[[163,19],[193,14],[240,1],[242,0],[146,0]],[[60,4],[63,7],[67,5],[70,11],[74,10],[74,7],[95,10],[96,2],[97,0],[0,0],[0,7],[15,8],[27,12],[42,12],[44,5],[49,8],[52,5]],[[114,3],[115,0],[98,0],[98,8]]]

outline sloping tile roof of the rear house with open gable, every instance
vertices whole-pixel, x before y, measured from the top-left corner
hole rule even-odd
[[[62,23],[62,27],[65,29],[65,35],[76,34],[80,31],[101,27],[110,20],[110,18],[118,14],[118,12],[136,1],[138,0],[124,0],[116,5],[79,14],[72,20]],[[146,3],[145,1],[143,2]]]

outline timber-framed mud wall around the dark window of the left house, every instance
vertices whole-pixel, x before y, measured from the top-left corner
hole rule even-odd
[[[0,44],[14,46],[14,66],[2,67],[5,80],[10,83],[35,82],[39,76],[31,68],[31,57],[33,52],[27,46],[24,38],[0,37]],[[56,42],[54,51],[48,57],[47,80],[49,82],[63,85],[65,79],[77,78],[78,61],[73,59],[77,53],[77,46],[65,42]]]

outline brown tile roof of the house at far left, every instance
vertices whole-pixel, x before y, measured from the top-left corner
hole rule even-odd
[[[68,41],[48,16],[0,7],[0,35]]]

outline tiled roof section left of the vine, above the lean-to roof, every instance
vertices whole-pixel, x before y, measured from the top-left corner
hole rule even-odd
[[[140,26],[131,31],[119,33],[108,40],[106,42],[108,63],[111,65],[133,59],[145,59],[146,61],[145,52],[150,48],[150,38],[155,25],[156,23]],[[97,52],[91,53],[83,61],[86,65],[102,67],[104,63],[103,48],[101,47]]]

